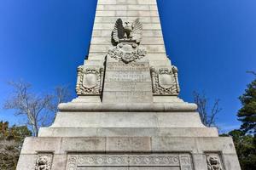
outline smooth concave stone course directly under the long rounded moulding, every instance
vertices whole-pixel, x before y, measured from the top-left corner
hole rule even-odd
[[[85,105],[86,106],[86,105]],[[79,118],[80,117],[80,118]],[[101,117],[101,119],[98,119]],[[73,120],[73,121],[71,121]],[[197,112],[61,112],[51,127],[205,127]],[[206,128],[207,129],[207,128]]]

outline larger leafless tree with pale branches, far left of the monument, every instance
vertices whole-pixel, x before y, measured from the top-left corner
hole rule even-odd
[[[15,115],[25,115],[33,136],[38,136],[39,127],[44,126],[48,121],[47,111],[53,96],[33,94],[31,85],[27,82],[9,82],[9,84],[14,88],[14,92],[6,100],[3,108],[15,110]]]

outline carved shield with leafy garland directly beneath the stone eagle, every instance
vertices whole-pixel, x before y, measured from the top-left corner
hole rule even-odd
[[[140,48],[135,42],[121,42],[113,49],[108,50],[108,57],[123,61],[125,64],[142,59],[146,54],[146,50]]]

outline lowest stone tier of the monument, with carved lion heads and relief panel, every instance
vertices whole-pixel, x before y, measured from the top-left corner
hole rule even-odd
[[[240,170],[229,137],[44,137],[26,138],[17,169],[210,170],[212,159]]]

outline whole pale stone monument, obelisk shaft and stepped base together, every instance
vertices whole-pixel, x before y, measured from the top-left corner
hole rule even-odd
[[[178,98],[156,0],[98,0],[78,97],[26,138],[18,170],[240,170],[232,139]]]

